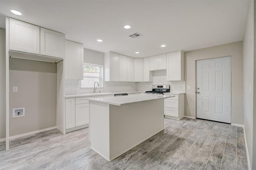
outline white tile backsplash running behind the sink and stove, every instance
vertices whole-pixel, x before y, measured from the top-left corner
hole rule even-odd
[[[186,81],[166,81],[166,70],[153,72],[153,82],[104,82],[104,88],[98,88],[96,92],[133,92],[152,90],[153,84],[170,84],[171,92],[186,92]],[[92,93],[93,88],[81,88],[81,80],[66,80],[65,94]]]

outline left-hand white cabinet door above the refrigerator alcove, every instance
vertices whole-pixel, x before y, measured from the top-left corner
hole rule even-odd
[[[10,18],[10,50],[40,53],[40,27]]]

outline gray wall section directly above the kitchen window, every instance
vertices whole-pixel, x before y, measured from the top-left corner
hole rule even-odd
[[[84,63],[104,66],[104,53],[90,49],[84,49]]]

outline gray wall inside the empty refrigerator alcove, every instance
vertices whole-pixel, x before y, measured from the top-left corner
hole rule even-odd
[[[25,116],[12,118],[12,108],[18,107],[25,107]],[[56,64],[10,58],[10,136],[54,126]]]

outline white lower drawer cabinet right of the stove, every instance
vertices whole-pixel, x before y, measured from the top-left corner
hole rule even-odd
[[[164,99],[164,117],[180,120],[184,117],[184,94]]]

